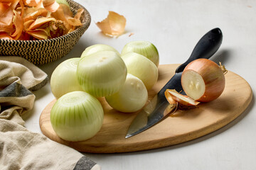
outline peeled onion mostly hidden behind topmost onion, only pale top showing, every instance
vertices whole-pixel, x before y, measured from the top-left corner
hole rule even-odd
[[[113,51],[120,56],[120,53],[117,50],[115,50],[114,47],[111,47],[110,45],[96,44],[96,45],[91,45],[90,47],[85,48],[85,50],[82,52],[81,58],[86,57],[88,55],[92,55],[93,53],[100,52],[100,51]]]

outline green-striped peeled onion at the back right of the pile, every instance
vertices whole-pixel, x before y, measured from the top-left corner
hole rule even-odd
[[[159,66],[159,52],[156,47],[149,41],[132,41],[124,45],[121,55],[125,55],[129,52],[136,52],[139,55],[147,57],[151,62]]]

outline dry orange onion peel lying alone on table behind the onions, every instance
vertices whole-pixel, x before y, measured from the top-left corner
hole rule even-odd
[[[126,18],[114,11],[109,11],[107,18],[101,22],[97,22],[96,25],[105,35],[119,36],[124,33]]]

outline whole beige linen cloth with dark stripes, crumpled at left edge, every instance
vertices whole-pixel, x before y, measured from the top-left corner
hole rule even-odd
[[[47,75],[23,58],[0,57],[0,169],[100,169],[75,149],[23,127],[21,115],[35,100],[31,91],[47,82]]]

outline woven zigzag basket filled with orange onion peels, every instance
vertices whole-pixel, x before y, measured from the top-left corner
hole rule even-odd
[[[67,55],[91,21],[72,0],[0,0],[0,12],[0,55],[37,65]]]

